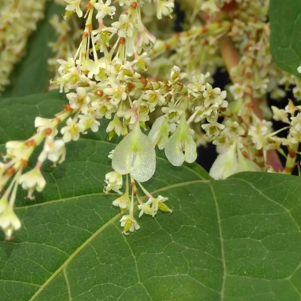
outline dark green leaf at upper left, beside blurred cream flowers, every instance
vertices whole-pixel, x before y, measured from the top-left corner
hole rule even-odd
[[[37,30],[29,37],[26,55],[11,73],[11,84],[1,98],[41,93],[48,87],[51,73],[47,61],[54,56],[48,43],[57,39],[49,18],[54,14],[61,16],[63,12],[64,7],[54,1],[46,2],[45,18],[39,21]]]

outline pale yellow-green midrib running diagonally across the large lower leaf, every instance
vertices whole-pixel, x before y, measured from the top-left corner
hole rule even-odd
[[[178,184],[173,184],[173,185],[169,185],[157,190],[154,190],[151,192],[151,194],[155,194],[157,192],[160,191],[165,191],[169,188],[175,188],[175,187],[180,187],[180,186],[185,186],[185,185],[191,185],[191,184],[195,184],[195,183],[208,183],[209,180],[195,180],[195,181],[189,181],[189,182],[182,182],[182,183],[178,183]],[[141,197],[141,200],[144,200],[146,196]],[[73,197],[75,198],[75,197]],[[51,203],[50,202],[46,202],[47,204]],[[44,203],[41,203],[44,204]],[[39,205],[39,204],[34,204],[31,206],[35,206],[35,205]],[[28,207],[28,206],[27,206]],[[135,208],[136,209],[136,208]],[[137,209],[136,209],[137,210]],[[61,272],[63,271],[64,268],[66,268],[68,266],[68,264],[73,260],[74,257],[76,257],[76,255],[85,247],[87,246],[99,233],[101,233],[105,228],[107,228],[107,226],[111,225],[113,222],[115,222],[120,216],[122,216],[122,213],[117,213],[115,216],[113,216],[113,218],[111,218],[108,222],[106,222],[104,225],[102,225],[96,232],[94,232],[87,240],[85,240],[85,242],[83,244],[81,244],[67,259],[66,261],[44,282],[44,284],[41,285],[41,287],[39,288],[39,290],[36,291],[36,293],[29,299],[29,301],[33,301],[39,294],[40,292]]]

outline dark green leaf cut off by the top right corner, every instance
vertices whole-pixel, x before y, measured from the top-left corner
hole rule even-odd
[[[298,77],[301,64],[301,2],[270,1],[271,52],[281,69]]]

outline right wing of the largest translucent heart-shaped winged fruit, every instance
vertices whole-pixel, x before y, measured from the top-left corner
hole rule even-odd
[[[138,150],[134,156],[136,157],[132,161],[130,174],[139,182],[148,181],[156,169],[156,152],[151,139],[141,130],[138,138]]]

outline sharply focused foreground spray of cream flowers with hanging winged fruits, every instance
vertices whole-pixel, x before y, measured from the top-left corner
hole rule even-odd
[[[203,74],[194,70],[188,75],[173,66],[167,80],[148,80],[141,74],[148,70],[156,38],[142,23],[141,5],[150,1],[118,1],[122,14],[110,26],[104,24],[104,18],[110,20],[116,13],[111,0],[90,0],[85,5],[85,14],[80,0],[65,2],[68,3],[65,19],[73,13],[86,18],[74,57],[58,59],[58,76],[51,80],[61,92],[67,93],[69,105],[52,119],[36,117],[37,132],[31,138],[6,144],[4,163],[0,163],[0,192],[7,184],[8,187],[0,198],[0,227],[8,239],[13,230],[21,226],[13,211],[18,185],[28,190],[27,197],[33,199],[33,192],[42,191],[46,185],[41,173],[43,163],[46,160],[54,166],[62,163],[66,156],[65,144],[77,141],[80,134],[90,129],[97,132],[100,119],[110,120],[106,127],[109,140],[115,135],[124,136],[109,154],[113,171],[105,175],[104,186],[106,194],[110,191],[120,194],[113,205],[124,214],[120,220],[124,234],[139,228],[133,215],[134,196],[139,217],[143,214],[154,217],[158,210],[172,212],[165,204],[167,197],[155,197],[141,184],[154,175],[155,147],[164,150],[172,165],[181,166],[196,160],[196,140],[213,142],[219,156],[209,174],[215,179],[239,171],[266,171],[268,168],[273,171],[266,164],[266,154],[271,149],[279,150],[281,144],[290,150],[285,171],[289,173],[294,167],[301,141],[299,107],[290,102],[285,110],[273,108],[274,119],[289,124],[284,128],[289,128],[288,137],[278,138],[271,123],[259,119],[244,104],[245,94],[238,83],[230,90],[240,106],[238,110],[230,110],[225,100],[226,91],[213,88],[209,72]],[[172,0],[156,0],[152,5],[156,6],[159,19],[163,15],[171,16],[174,7]],[[98,22],[95,29],[93,16]],[[72,89],[74,92],[70,92]],[[158,114],[146,132],[154,111]],[[291,114],[290,119],[288,114]],[[223,122],[220,117],[224,117]],[[64,120],[66,124],[60,129],[62,137],[56,138],[58,125]],[[41,143],[43,148],[36,166],[22,174],[30,155]],[[126,188],[122,193],[124,179]],[[145,194],[145,202],[139,197],[137,187]]]

